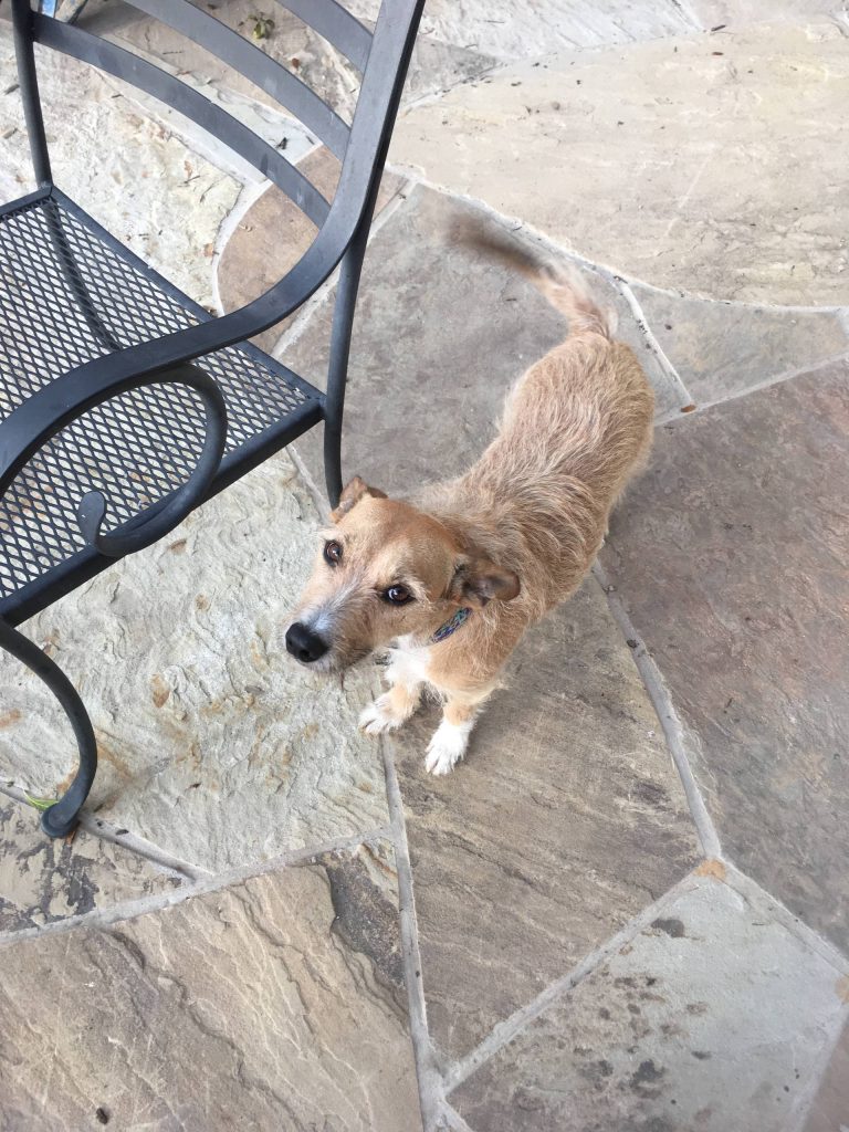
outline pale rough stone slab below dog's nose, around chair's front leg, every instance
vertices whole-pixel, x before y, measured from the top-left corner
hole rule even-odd
[[[371,671],[321,678],[283,649],[318,526],[276,456],[26,624],[92,714],[89,808],[213,872],[386,823],[379,752],[357,729]],[[72,761],[69,728],[11,658],[0,686],[15,713],[0,731],[3,773],[52,797]]]

